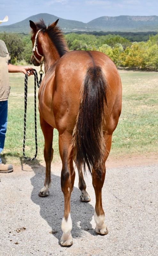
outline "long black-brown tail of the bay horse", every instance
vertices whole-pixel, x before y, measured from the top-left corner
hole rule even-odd
[[[102,120],[107,105],[108,84],[100,67],[87,69],[81,88],[81,100],[73,132],[76,165],[98,168],[105,155]]]

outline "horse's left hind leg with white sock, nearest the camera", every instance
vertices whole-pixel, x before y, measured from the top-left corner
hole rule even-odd
[[[75,170],[73,166],[71,141],[71,134],[62,133],[59,135],[59,152],[62,160],[61,189],[64,194],[64,218],[61,223],[63,234],[60,243],[63,246],[70,246],[73,244],[71,235],[72,220],[70,216],[70,197],[74,187]]]

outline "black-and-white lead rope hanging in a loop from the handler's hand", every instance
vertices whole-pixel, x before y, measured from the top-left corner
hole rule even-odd
[[[40,87],[40,84],[42,82],[42,75],[43,75],[43,70],[42,70],[42,65],[41,65],[41,70],[39,71],[40,74],[40,80],[38,82],[38,76],[37,76],[37,71],[36,69],[34,70],[34,81],[35,81],[35,144],[36,144],[36,154],[33,158],[28,158],[25,156],[25,140],[26,140],[26,111],[27,111],[27,97],[28,97],[28,72],[25,75],[25,113],[24,113],[24,140],[23,140],[23,156],[25,159],[28,161],[32,161],[36,158],[37,156],[37,125],[36,125],[36,82],[38,88]],[[31,71],[31,70],[29,70]]]

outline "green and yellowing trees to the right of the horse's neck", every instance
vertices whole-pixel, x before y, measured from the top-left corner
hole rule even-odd
[[[70,50],[99,51],[107,54],[117,67],[158,70],[158,34],[146,42],[131,42],[120,35],[95,36],[67,34]]]

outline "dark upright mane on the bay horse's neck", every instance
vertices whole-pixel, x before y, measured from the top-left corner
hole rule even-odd
[[[41,29],[43,31],[43,34],[48,34],[52,43],[56,46],[60,57],[63,56],[66,52],[68,52],[66,40],[61,29],[58,26],[51,26],[49,24],[48,27],[46,27],[43,19],[41,19],[39,22],[36,22],[35,24],[38,30]]]

